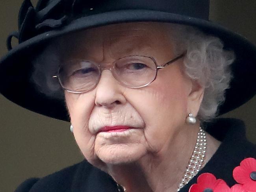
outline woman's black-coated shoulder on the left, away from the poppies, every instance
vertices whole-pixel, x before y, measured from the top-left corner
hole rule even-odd
[[[97,177],[100,179],[95,179]],[[102,180],[111,185],[113,183],[109,175],[93,167],[89,162],[82,161],[46,177],[28,179],[20,184],[15,192],[89,192],[90,190],[82,188],[98,185]]]

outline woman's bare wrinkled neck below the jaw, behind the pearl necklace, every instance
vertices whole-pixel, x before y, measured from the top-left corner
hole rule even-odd
[[[149,153],[129,164],[108,165],[108,173],[126,192],[176,191],[195,148],[198,129],[199,125],[182,128],[158,153]],[[206,152],[205,163],[219,146],[213,137],[207,139],[211,151]]]

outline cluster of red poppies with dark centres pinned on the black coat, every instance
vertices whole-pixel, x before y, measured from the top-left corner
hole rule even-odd
[[[233,177],[238,183],[231,188],[223,179],[216,179],[213,174],[203,173],[197,183],[191,185],[189,192],[256,192],[256,159],[247,158],[233,170]]]

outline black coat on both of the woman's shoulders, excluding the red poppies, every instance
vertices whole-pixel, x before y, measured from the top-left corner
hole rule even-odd
[[[224,179],[229,186],[232,186],[236,183],[232,177],[233,169],[245,158],[256,158],[256,147],[246,140],[245,126],[240,120],[218,119],[204,126],[211,135],[221,140],[222,144],[198,175],[205,172],[212,173],[217,179]],[[180,192],[188,192],[189,187],[196,183],[198,175]],[[15,192],[66,191],[117,192],[118,190],[115,181],[109,175],[83,161],[42,179],[29,179]]]

